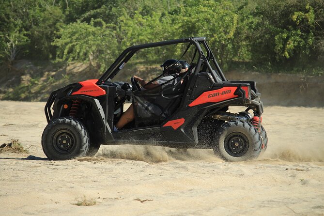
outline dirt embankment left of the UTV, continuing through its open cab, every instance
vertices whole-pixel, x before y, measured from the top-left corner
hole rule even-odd
[[[133,74],[154,78],[157,71],[160,71],[158,66],[139,66],[136,69],[128,66],[115,78],[127,81]],[[10,70],[0,67],[0,100],[46,101],[52,91],[70,83],[98,79],[103,73],[85,63],[20,60]]]

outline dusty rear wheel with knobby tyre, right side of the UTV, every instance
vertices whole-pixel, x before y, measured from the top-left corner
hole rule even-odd
[[[244,161],[257,158],[262,139],[250,123],[230,121],[223,123],[216,132],[214,153],[226,161]]]

